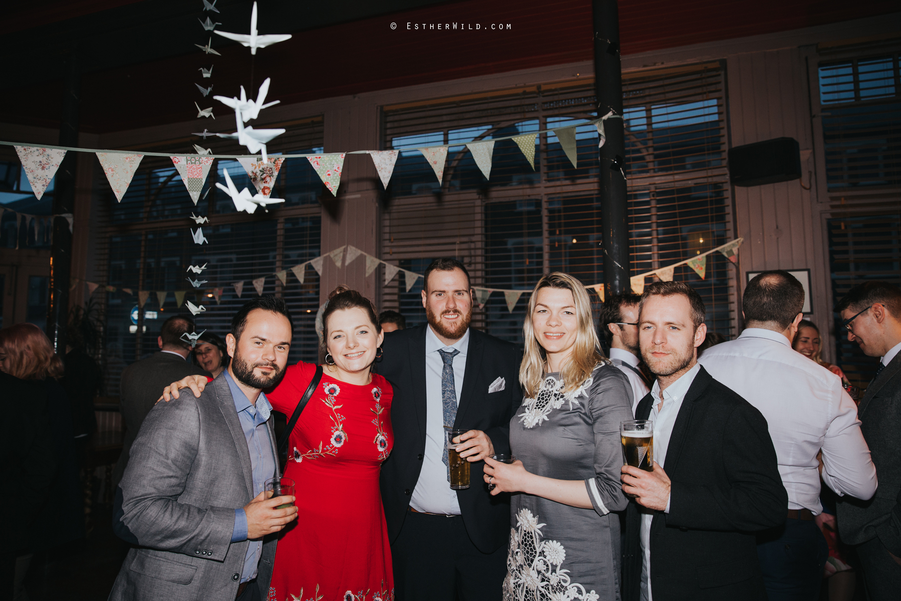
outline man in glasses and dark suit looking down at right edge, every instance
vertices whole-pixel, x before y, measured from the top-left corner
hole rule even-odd
[[[881,357],[858,407],[879,485],[869,501],[842,497],[839,533],[855,546],[867,598],[887,601],[901,591],[901,289],[867,282],[851,288],[837,308],[848,340]]]

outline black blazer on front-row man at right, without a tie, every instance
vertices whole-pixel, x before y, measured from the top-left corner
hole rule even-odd
[[[653,397],[635,419],[648,419]],[[702,367],[669,438],[669,514],[651,522],[654,601],[766,601],[753,531],[782,524],[788,496],[767,420]],[[642,515],[626,509],[623,600],[641,597]]]

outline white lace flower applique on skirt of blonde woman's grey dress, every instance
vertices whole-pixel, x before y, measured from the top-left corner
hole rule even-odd
[[[569,569],[562,569],[566,549],[557,541],[542,541],[538,516],[528,509],[516,514],[510,531],[504,601],[598,601],[594,590],[569,581]]]

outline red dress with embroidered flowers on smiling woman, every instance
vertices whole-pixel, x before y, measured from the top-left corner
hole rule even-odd
[[[315,369],[289,367],[269,403],[290,417]],[[391,398],[378,374],[356,386],[323,373],[288,441],[285,477],[296,482],[298,514],[278,541],[268,601],[394,599],[378,489],[394,445]]]

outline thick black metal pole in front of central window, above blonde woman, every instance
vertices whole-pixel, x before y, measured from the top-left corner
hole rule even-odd
[[[595,26],[595,96],[597,116],[610,110],[623,114],[619,11],[616,0],[593,0]],[[607,294],[623,294],[629,283],[629,224],[625,191],[623,119],[604,123],[606,142],[600,150],[601,223],[604,232],[604,282]]]

